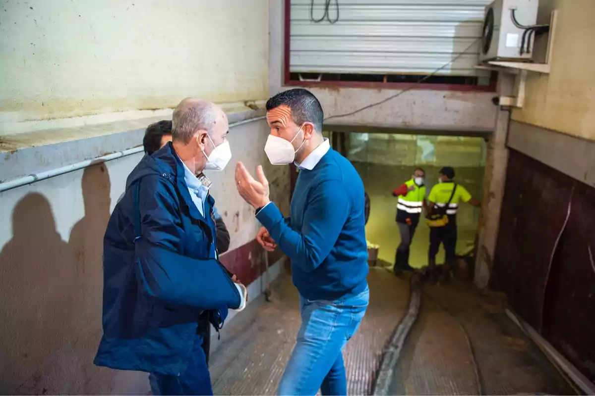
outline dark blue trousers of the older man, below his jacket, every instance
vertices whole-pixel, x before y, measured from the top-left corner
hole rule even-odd
[[[151,392],[154,395],[212,395],[211,375],[202,349],[202,335],[197,334],[188,368],[180,376],[151,373]]]

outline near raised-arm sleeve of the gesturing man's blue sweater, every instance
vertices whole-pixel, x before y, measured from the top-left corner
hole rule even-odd
[[[311,272],[330,254],[345,225],[350,207],[343,182],[327,180],[314,189],[306,204],[301,230],[293,229],[272,203],[262,208],[256,218],[292,264],[305,272]]]

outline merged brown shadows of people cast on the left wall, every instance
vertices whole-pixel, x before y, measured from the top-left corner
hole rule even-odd
[[[118,387],[117,377],[126,375],[93,366],[110,204],[104,164],[84,170],[82,191],[84,217],[68,243],[42,194],[27,194],[12,212],[13,236],[0,252],[0,394],[99,394],[132,386],[130,375]]]

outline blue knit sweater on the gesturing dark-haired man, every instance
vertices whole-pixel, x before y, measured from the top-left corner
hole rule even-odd
[[[367,287],[364,184],[333,149],[312,170],[302,169],[291,216],[271,202],[256,214],[292,262],[293,283],[309,300],[336,300]]]

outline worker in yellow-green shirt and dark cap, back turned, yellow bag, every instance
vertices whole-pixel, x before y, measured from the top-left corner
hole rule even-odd
[[[455,170],[445,166],[440,169],[438,184],[433,186],[428,196],[428,207],[434,213],[443,212],[447,216],[447,223],[441,227],[430,227],[430,249],[428,249],[428,267],[430,270],[430,281],[436,283],[436,255],[440,243],[444,246],[446,253],[445,265],[441,266],[441,280],[447,280],[450,276],[450,269],[456,258],[456,213],[459,208],[459,201],[469,202],[474,207],[480,207],[480,201],[473,199],[464,186],[455,182]]]

